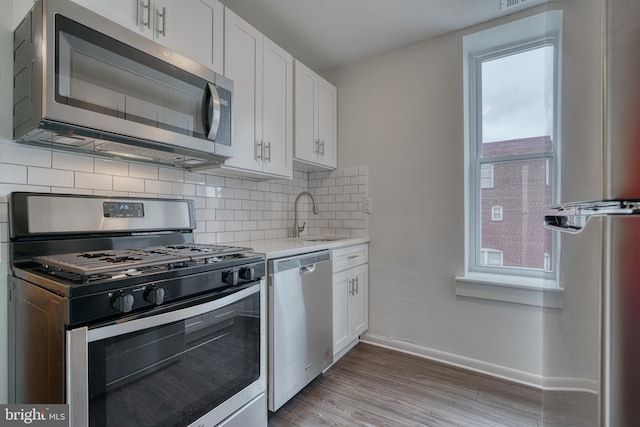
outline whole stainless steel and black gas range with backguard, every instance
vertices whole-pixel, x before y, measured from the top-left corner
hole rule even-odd
[[[266,425],[265,260],[190,200],[12,193],[12,403],[72,426]]]

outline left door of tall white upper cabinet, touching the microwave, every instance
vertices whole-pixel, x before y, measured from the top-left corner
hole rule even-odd
[[[225,9],[224,74],[234,81],[233,157],[225,165],[262,170],[262,34]],[[258,119],[259,118],[259,119]]]

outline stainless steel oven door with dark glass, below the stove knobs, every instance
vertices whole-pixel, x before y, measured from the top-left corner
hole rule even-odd
[[[72,425],[214,426],[264,393],[264,287],[68,331]]]

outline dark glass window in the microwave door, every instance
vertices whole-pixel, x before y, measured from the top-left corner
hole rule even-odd
[[[56,101],[206,139],[204,80],[56,17]]]

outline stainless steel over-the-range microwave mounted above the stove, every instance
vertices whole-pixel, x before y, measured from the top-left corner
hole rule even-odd
[[[14,32],[16,142],[202,168],[233,155],[232,106],[231,80],[70,0]]]

